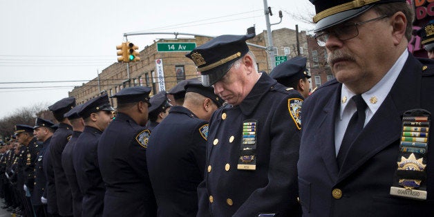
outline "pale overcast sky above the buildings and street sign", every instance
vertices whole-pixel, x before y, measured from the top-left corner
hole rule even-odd
[[[287,12],[314,12],[308,0],[268,0],[279,28],[311,30]],[[243,35],[266,30],[263,0],[218,1],[0,1],[0,118],[22,107],[53,104],[73,86],[97,77],[117,61],[125,32]],[[129,36],[139,46],[173,35]],[[185,36],[180,36],[185,37]],[[75,82],[71,82],[75,81]],[[44,87],[44,88],[36,88]]]

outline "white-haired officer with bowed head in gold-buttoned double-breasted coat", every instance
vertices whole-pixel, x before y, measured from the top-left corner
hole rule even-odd
[[[298,216],[301,95],[258,73],[246,40],[221,35],[187,57],[227,102],[209,121],[198,216]]]

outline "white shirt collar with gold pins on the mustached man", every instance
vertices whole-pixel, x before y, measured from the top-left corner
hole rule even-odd
[[[404,53],[402,53],[401,56],[397,59],[395,64],[393,64],[392,68],[388,70],[386,75],[384,75],[383,78],[375,86],[370,88],[369,91],[366,91],[365,93],[361,94],[361,97],[364,98],[366,104],[368,104],[368,109],[370,112],[375,114],[377,110],[379,109],[379,106],[384,102],[386,99],[386,96],[390,92],[390,89],[392,88],[393,84],[395,84],[395,81],[399,75],[399,72],[401,72],[402,68],[404,67],[404,64],[406,63],[406,60],[408,58],[408,51],[404,50]],[[341,88],[341,111],[339,113],[339,119],[342,120],[342,115],[344,111],[346,110],[346,107],[353,103],[348,103],[353,97],[355,93],[352,93],[348,87],[345,84],[342,84]],[[352,107],[352,106],[351,106]],[[355,104],[354,104],[355,108]],[[351,112],[351,114],[354,113],[354,111]],[[371,117],[372,117],[371,115]],[[366,122],[367,123],[367,122]]]

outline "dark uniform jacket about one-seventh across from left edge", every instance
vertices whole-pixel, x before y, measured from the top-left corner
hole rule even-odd
[[[62,167],[62,152],[71,134],[73,134],[73,127],[60,123],[59,129],[53,134],[50,144],[50,157],[55,172],[57,207],[61,216],[73,215],[73,196],[70,193],[68,180]]]

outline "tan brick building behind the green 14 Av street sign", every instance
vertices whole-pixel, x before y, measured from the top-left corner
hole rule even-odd
[[[296,37],[295,30],[282,28],[272,31],[274,47],[276,47],[276,55],[287,55],[290,57],[296,56]],[[76,98],[77,104],[83,104],[87,100],[96,97],[104,92],[109,96],[114,95],[124,87],[128,86],[151,86],[151,95],[160,92],[160,83],[158,73],[155,71],[157,64],[155,59],[162,60],[162,70],[164,72],[165,90],[178,84],[183,79],[189,79],[198,76],[196,67],[191,59],[185,57],[187,52],[158,52],[157,44],[160,42],[184,43],[194,42],[196,46],[205,44],[210,37],[196,36],[194,38],[178,38],[178,39],[159,39],[151,46],[145,47],[140,51],[140,61],[129,63],[129,70],[126,70],[126,63],[114,63],[108,66],[95,79],[92,79],[82,86],[76,86],[68,93],[69,96]],[[308,48],[305,32],[299,33],[301,40],[301,51]],[[263,31],[256,35],[253,39],[247,41],[250,44],[258,46],[267,46],[267,32]],[[249,46],[256,57],[258,70],[270,73],[270,61],[267,59],[267,52],[263,48]],[[113,51],[114,52],[114,51]],[[306,55],[301,53],[301,55]],[[160,80],[162,78],[160,77]],[[116,106],[116,100],[111,99],[111,104]]]

